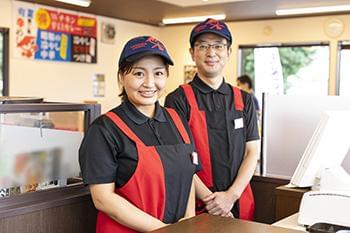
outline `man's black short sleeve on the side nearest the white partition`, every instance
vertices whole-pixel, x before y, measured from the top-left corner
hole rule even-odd
[[[244,119],[247,128],[246,142],[258,140],[258,122],[256,116],[256,110],[254,105],[253,96],[247,92],[241,91],[244,101]]]

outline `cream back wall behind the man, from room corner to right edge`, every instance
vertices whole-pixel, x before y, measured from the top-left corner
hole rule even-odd
[[[324,32],[324,26],[330,19],[339,19],[344,23],[344,32],[338,38],[331,38]],[[233,83],[237,77],[238,45],[260,43],[299,43],[325,41],[330,44],[330,81],[329,93],[335,94],[336,60],[338,40],[350,39],[349,15],[303,17],[279,20],[258,20],[246,22],[229,22],[233,34],[233,52],[225,69],[225,78]],[[175,66],[171,70],[168,90],[172,90],[183,82],[185,64],[192,64],[188,52],[189,35],[193,25],[168,26],[161,30],[161,39],[169,48]]]

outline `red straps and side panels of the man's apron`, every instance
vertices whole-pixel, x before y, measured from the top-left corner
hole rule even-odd
[[[208,126],[206,120],[206,112],[199,110],[196,97],[192,86],[189,84],[181,85],[184,90],[186,99],[191,107],[189,126],[194,138],[196,150],[199,154],[202,170],[197,172],[199,178],[211,190],[213,190],[213,173],[211,165],[211,155],[209,149]],[[234,107],[236,111],[243,111],[244,103],[241,95],[241,90],[233,87]],[[203,203],[198,202],[198,205],[203,207]],[[250,184],[247,185],[239,199],[239,216],[240,219],[253,220],[254,218],[254,197]],[[201,213],[203,211],[199,211]]]

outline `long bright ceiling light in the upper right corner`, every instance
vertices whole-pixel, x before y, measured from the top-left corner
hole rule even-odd
[[[276,15],[317,14],[317,13],[338,12],[338,11],[350,11],[350,5],[279,9],[279,10],[276,10]]]

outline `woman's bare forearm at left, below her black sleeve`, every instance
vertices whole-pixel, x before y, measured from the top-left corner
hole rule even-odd
[[[104,212],[120,224],[136,231],[147,232],[166,226],[157,218],[140,210],[114,192],[115,184],[89,185],[96,209]]]

